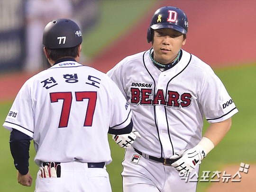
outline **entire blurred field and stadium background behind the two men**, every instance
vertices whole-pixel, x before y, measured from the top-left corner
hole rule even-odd
[[[201,170],[221,171],[229,165],[238,169],[243,162],[251,165],[248,174],[256,171],[256,0],[0,0],[0,126],[24,82],[49,67],[42,45],[48,22],[74,20],[83,36],[80,62],[107,72],[124,57],[151,47],[146,41],[147,28],[155,10],[163,6],[186,13],[189,30],[183,49],[213,68],[239,110],[232,117],[231,130],[203,160]],[[207,127],[205,122],[203,132]],[[110,181],[113,192],[121,192],[124,150],[111,138],[110,148]],[[35,180],[38,167],[34,155],[32,144],[30,170]],[[0,191],[34,191],[35,185],[19,185],[16,174],[9,131],[1,127]],[[247,178],[255,180],[256,176]],[[240,192],[242,188],[252,192],[250,187],[256,188],[249,179],[229,184],[217,191]],[[197,192],[210,192],[212,185],[215,183],[198,183]]]

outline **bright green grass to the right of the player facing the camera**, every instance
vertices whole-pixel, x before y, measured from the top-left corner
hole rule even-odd
[[[256,163],[256,104],[251,102],[256,94],[256,65],[216,70],[226,86],[239,112],[232,117],[232,126],[225,138],[202,161],[202,171],[221,171],[227,165]],[[203,132],[208,123],[205,122]],[[211,175],[212,176],[212,175]],[[211,183],[200,182],[197,192],[204,192]]]

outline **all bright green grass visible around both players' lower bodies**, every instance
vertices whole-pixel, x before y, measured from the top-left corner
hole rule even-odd
[[[240,165],[256,163],[256,103],[253,98],[256,95],[256,64],[240,66],[238,68],[216,70],[216,74],[225,84],[229,94],[238,107],[239,113],[232,117],[231,130],[224,140],[214,148],[202,161],[202,171],[219,171],[226,165]],[[13,101],[0,103],[0,124],[2,125]],[[203,132],[208,127],[205,122]],[[124,149],[119,148],[110,139],[110,148],[113,162],[107,166],[110,174],[110,182],[113,192],[122,191],[121,161]],[[33,142],[33,141],[32,141]],[[33,143],[30,148],[30,174],[34,178],[31,187],[24,187],[17,182],[17,171],[13,165],[13,159],[9,151],[9,131],[1,126],[0,129],[0,188],[1,192],[34,192],[35,179],[38,167],[33,162],[35,149]],[[210,183],[198,183],[197,192],[205,192]]]

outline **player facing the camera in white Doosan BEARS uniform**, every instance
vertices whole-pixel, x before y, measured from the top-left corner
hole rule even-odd
[[[182,49],[187,31],[181,9],[156,10],[147,31],[152,48],[126,57],[107,73],[128,100],[141,136],[126,148],[124,192],[195,192],[197,182],[181,176],[198,174],[201,160],[238,113],[210,66]],[[210,127],[202,137],[204,116]]]

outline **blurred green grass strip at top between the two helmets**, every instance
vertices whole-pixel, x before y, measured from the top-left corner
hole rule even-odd
[[[98,22],[83,35],[82,52],[86,58],[95,57],[118,41],[121,35],[128,33],[155,2],[156,0],[101,1]]]

